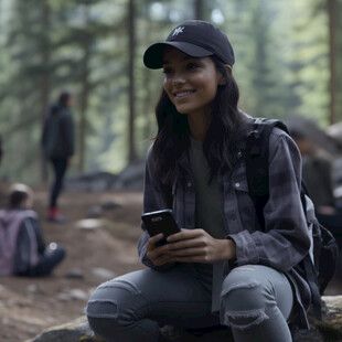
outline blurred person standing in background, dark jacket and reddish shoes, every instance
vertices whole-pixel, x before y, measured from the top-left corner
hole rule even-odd
[[[58,101],[54,104],[45,119],[42,146],[45,157],[54,171],[54,182],[51,188],[47,220],[64,223],[66,218],[61,214],[57,200],[63,189],[63,180],[67,167],[74,156],[74,122],[72,107],[74,98],[71,93],[62,92]]]

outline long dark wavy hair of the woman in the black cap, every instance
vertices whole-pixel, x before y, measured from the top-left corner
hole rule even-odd
[[[213,103],[212,120],[207,129],[203,151],[210,165],[211,182],[220,170],[231,173],[238,163],[238,151],[243,136],[243,116],[237,109],[239,90],[224,63],[211,56],[216,70],[226,84],[218,85]],[[152,150],[152,162],[157,177],[170,184],[175,172],[177,160],[190,145],[190,129],[186,115],[178,113],[167,93],[162,89],[156,107],[158,133]]]

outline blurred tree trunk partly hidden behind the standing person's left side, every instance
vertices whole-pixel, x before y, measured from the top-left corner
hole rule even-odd
[[[44,32],[44,36],[42,40],[42,65],[43,65],[43,74],[41,77],[41,114],[40,114],[40,121],[41,127],[43,129],[44,121],[45,121],[45,115],[49,107],[49,97],[50,97],[50,87],[51,87],[51,81],[50,81],[50,8],[46,4],[43,4],[42,7],[42,28]],[[43,184],[47,183],[47,163],[46,158],[43,153],[43,150],[41,151],[41,181]]]

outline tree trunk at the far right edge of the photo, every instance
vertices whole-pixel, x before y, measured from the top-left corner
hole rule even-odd
[[[329,17],[329,67],[330,67],[330,115],[329,124],[336,121],[336,99],[338,99],[338,77],[336,77],[336,31],[339,29],[339,8],[336,0],[328,0],[328,17]]]

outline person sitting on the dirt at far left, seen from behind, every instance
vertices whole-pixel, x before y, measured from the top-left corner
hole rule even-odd
[[[55,243],[46,248],[38,214],[31,211],[33,196],[29,186],[14,184],[8,209],[0,211],[0,276],[47,276],[65,257]]]

